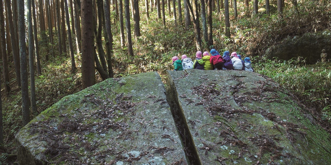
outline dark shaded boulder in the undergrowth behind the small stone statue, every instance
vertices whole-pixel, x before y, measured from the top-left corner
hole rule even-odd
[[[268,48],[266,57],[278,57],[290,60],[298,56],[306,59],[307,64],[315,64],[321,60],[322,49],[326,50],[328,59],[331,59],[331,32],[329,30],[318,33],[305,33],[302,36],[288,37],[281,43]]]

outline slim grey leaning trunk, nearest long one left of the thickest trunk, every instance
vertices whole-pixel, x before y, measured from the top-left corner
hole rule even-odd
[[[75,63],[75,56],[73,55],[73,47],[72,47],[72,38],[71,38],[71,30],[70,30],[70,20],[69,20],[69,11],[68,11],[68,2],[67,0],[64,1],[64,9],[66,11],[66,22],[67,22],[67,34],[68,34],[68,41],[69,41],[69,51],[70,51],[70,60],[71,60],[71,73],[76,73],[76,63]]]

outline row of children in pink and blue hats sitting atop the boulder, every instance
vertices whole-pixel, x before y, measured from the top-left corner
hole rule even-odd
[[[203,56],[202,56],[203,55]],[[223,56],[212,49],[210,53],[197,51],[194,62],[185,54],[182,55],[181,60],[177,56],[172,57],[172,64],[174,70],[185,69],[201,69],[201,70],[247,70],[254,71],[251,64],[251,59],[245,57],[244,60],[236,52],[224,51]]]

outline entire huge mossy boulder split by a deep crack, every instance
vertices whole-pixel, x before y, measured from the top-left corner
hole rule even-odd
[[[248,71],[107,79],[16,135],[21,165],[329,164],[330,135],[292,95]]]

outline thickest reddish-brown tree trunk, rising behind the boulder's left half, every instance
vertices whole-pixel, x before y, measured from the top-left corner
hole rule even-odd
[[[95,83],[94,35],[93,35],[93,0],[81,1],[82,19],[82,88]],[[96,55],[96,54],[95,54]]]

